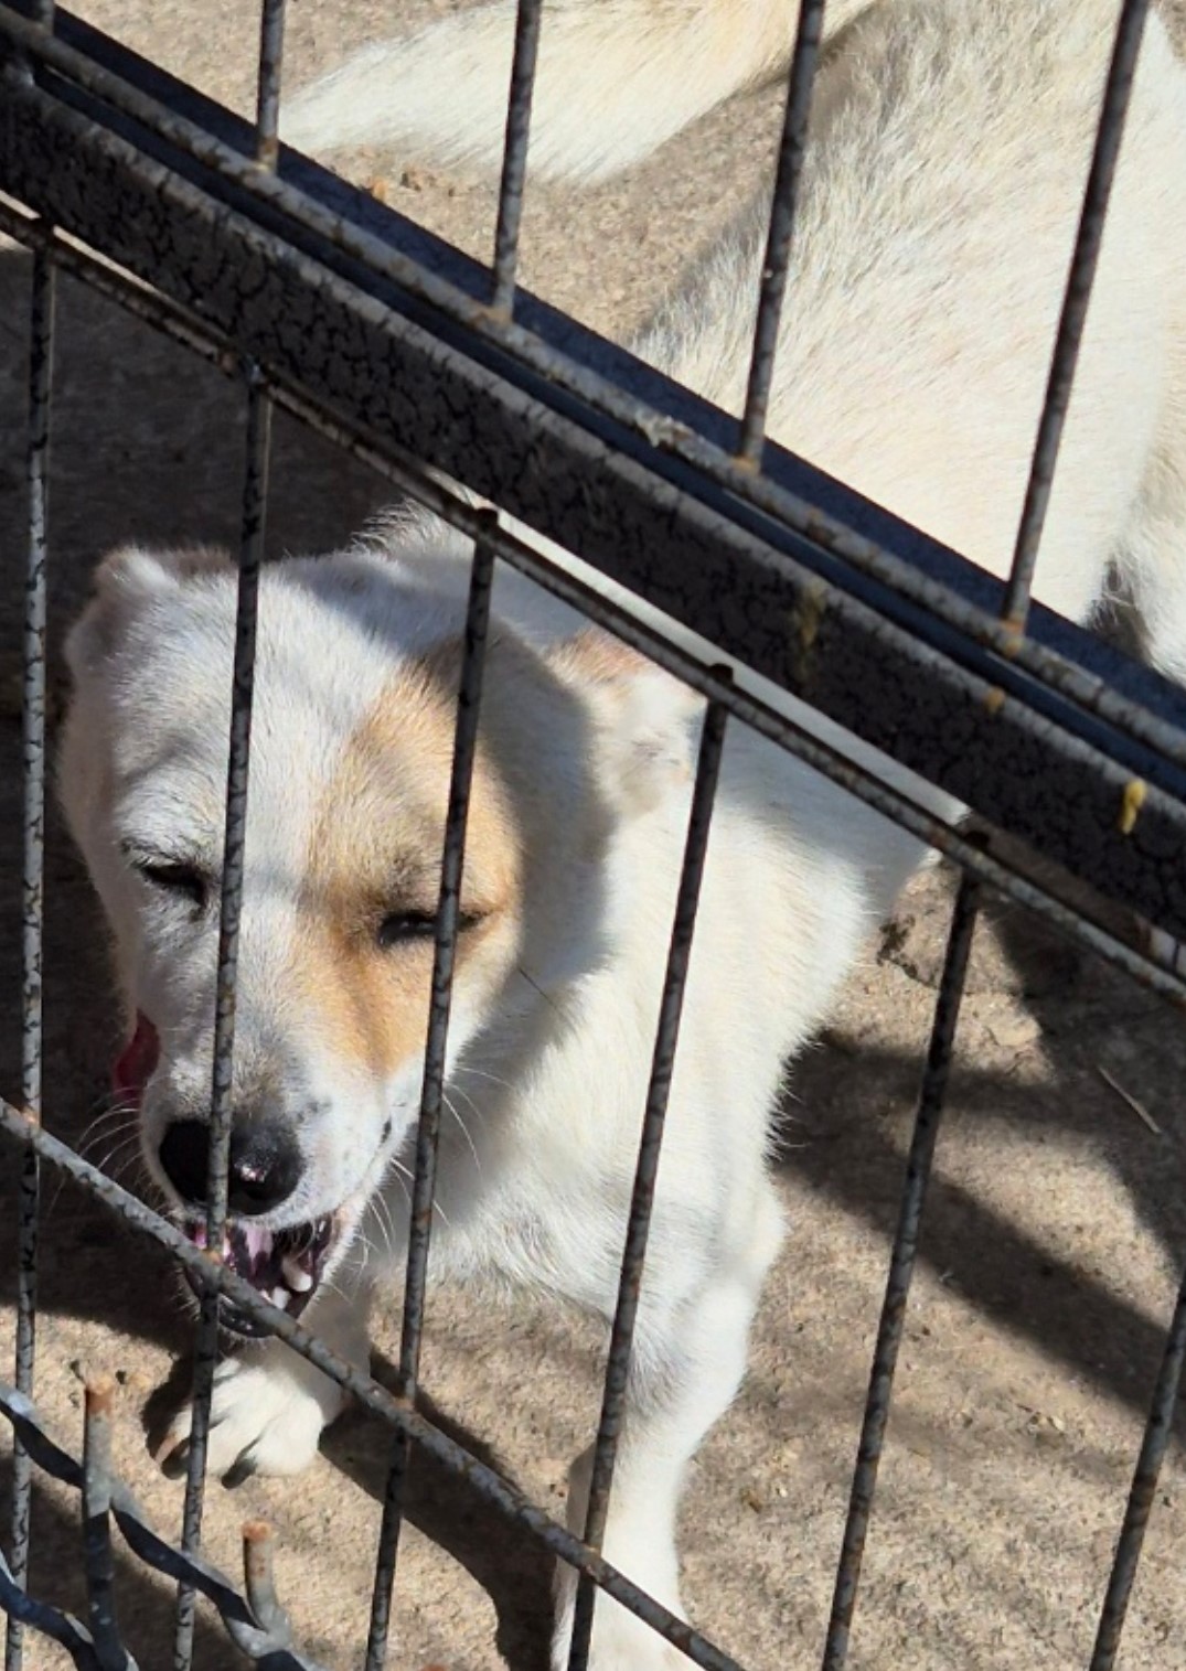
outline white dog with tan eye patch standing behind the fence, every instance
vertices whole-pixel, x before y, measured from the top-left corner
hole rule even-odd
[[[852,22],[857,8],[839,10],[772,434],[1002,573],[1116,0],[884,0]],[[297,130],[362,137],[351,110],[366,137],[438,154],[454,114],[481,114],[501,89],[508,27],[498,7],[411,53],[373,52],[299,102]],[[580,50],[593,38],[603,50]],[[628,160],[783,65],[788,43],[785,0],[548,13],[541,154],[560,172]],[[483,154],[494,137],[466,145]],[[757,206],[635,344],[725,408],[743,391],[760,259]],[[1037,592],[1086,620],[1119,571],[1171,673],[1186,672],[1183,272],[1186,74],[1153,17]],[[464,580],[464,541],[426,518],[262,578],[229,1247],[242,1275],[291,1312],[307,1305],[359,1364],[369,1288],[388,1277],[362,1248],[384,1243],[376,1227],[406,1223],[396,1173],[423,1069]],[[119,1079],[187,1223],[205,1175],[234,595],[217,553],[127,548],[70,640],[62,785],[135,1018]],[[433,1270],[489,1272],[606,1313],[698,705],[511,576],[494,618],[448,1061],[466,1130],[446,1123]],[[900,830],[733,727],[606,1537],[608,1557],[673,1609],[682,1475],[737,1390],[780,1240],[765,1150],[782,1064],[917,859]],[[302,1467],[337,1409],[337,1389],[291,1352],[249,1348],[217,1384],[212,1464]],[[578,1462],[578,1531],[585,1477]],[[558,1666],[571,1599],[561,1581]],[[593,1654],[596,1671],[678,1659],[605,1599]]]

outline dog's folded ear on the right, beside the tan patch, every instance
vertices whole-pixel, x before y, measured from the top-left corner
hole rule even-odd
[[[703,712],[695,690],[596,627],[556,645],[548,662],[591,705],[606,787],[625,810],[646,812],[690,780],[693,720]]]

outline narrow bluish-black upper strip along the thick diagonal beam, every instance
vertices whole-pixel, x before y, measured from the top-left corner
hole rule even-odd
[[[47,55],[67,74],[73,67],[80,85],[102,87],[104,99],[117,110],[147,120],[152,132],[180,147],[185,157],[220,172],[261,202],[277,204],[331,251],[356,257],[396,282],[408,297],[439,311],[466,333],[488,338],[526,371],[546,379],[545,388],[576,394],[591,413],[625,424],[648,444],[693,465],[705,478],[780,518],[870,580],[920,603],[974,642],[1001,650],[1087,712],[1131,729],[1138,740],[1186,764],[1186,698],[1156,673],[1109,653],[1046,610],[1034,613],[1031,637],[1019,640],[1001,622],[1002,582],[783,449],[767,448],[763,471],[755,475],[745,449],[738,461],[730,448],[733,419],[688,389],[525,291],[516,292],[514,321],[504,317],[496,302],[484,302],[486,267],[297,154],[284,154],[279,175],[261,172],[251,165],[254,129],[247,124],[62,8],[55,13],[60,40],[43,32],[22,32],[20,13],[33,3],[7,0],[5,7],[0,0],[0,30],[3,12],[15,13],[8,27],[13,42],[23,42],[33,55]],[[70,53],[70,43],[82,48],[82,58]],[[62,90],[70,95],[68,87]],[[788,115],[795,115],[797,104],[792,100]],[[107,112],[102,119],[110,120]],[[1076,662],[1084,660],[1084,648],[1086,665],[1081,667]]]

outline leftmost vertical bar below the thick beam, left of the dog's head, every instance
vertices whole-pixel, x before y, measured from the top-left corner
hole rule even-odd
[[[52,8],[45,8],[48,22]],[[20,1095],[30,1121],[42,1118],[42,924],[45,882],[45,583],[50,488],[50,408],[53,389],[55,272],[47,251],[33,256],[28,326],[28,553],[23,633],[23,861],[22,861],[22,1068]],[[37,1238],[40,1163],[32,1145],[20,1161],[17,1203],[17,1389],[33,1394],[37,1355]],[[13,1582],[28,1576],[32,1460],[13,1437],[12,1561]],[[8,1619],[5,1671],[20,1671],[23,1628]]]

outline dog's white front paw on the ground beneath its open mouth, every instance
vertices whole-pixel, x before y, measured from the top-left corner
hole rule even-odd
[[[341,1415],[342,1389],[279,1342],[252,1355],[224,1359],[214,1374],[207,1469],[227,1484],[247,1474],[299,1474],[317,1455],[322,1427]],[[182,1472],[189,1455],[192,1405],[169,1425],[157,1457]]]

